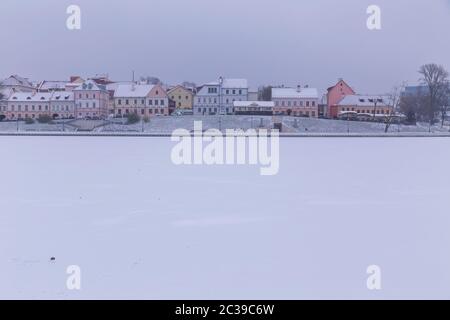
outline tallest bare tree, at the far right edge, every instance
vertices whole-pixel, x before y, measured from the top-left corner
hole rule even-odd
[[[435,63],[426,64],[420,67],[419,73],[422,75],[421,82],[427,87],[428,104],[426,105],[426,115],[429,121],[429,130],[439,110],[439,104],[447,96],[449,73],[441,65]]]

